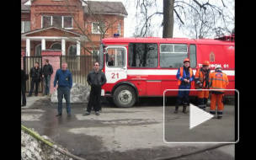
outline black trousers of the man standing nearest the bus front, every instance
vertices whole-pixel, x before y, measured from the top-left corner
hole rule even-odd
[[[95,109],[95,112],[101,109],[100,94],[101,94],[101,86],[91,87],[89,102],[88,102],[86,111],[91,112],[92,107]]]

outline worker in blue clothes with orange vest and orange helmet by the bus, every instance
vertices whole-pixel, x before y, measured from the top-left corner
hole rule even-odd
[[[191,83],[194,81],[194,73],[190,68],[189,58],[184,59],[184,67],[178,69],[177,75],[179,89],[190,89]],[[183,103],[183,113],[187,114],[186,107],[189,102],[189,90],[179,90],[175,104],[174,114],[178,113],[179,104]]]

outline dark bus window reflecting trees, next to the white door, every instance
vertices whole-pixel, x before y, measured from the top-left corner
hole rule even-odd
[[[129,67],[157,67],[157,44],[129,44]]]

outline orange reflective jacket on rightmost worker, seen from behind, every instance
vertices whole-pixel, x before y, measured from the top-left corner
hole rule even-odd
[[[224,72],[212,72],[210,75],[211,89],[226,89],[228,82],[227,74]],[[217,90],[224,93],[224,90]]]

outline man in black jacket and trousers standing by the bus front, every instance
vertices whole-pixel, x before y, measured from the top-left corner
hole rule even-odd
[[[92,107],[95,109],[95,114],[99,115],[101,86],[107,82],[104,72],[99,70],[99,62],[94,63],[93,71],[88,73],[87,82],[91,86],[91,92],[86,112],[83,115],[90,115]]]

